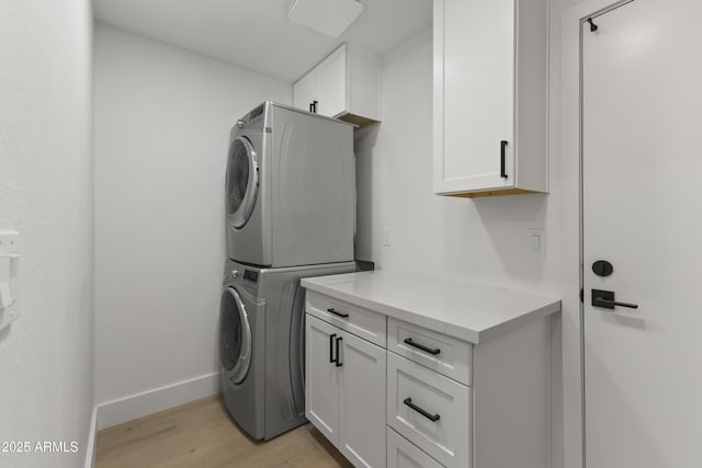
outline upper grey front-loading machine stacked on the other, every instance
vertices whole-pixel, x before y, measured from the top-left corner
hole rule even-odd
[[[241,117],[226,171],[228,258],[261,266],[353,260],[353,125],[274,102]]]

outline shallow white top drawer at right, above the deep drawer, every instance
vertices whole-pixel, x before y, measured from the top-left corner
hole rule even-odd
[[[461,384],[471,385],[473,344],[466,341],[388,318],[387,349]]]

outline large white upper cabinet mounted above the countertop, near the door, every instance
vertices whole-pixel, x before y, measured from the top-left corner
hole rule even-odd
[[[546,0],[434,0],[434,192],[547,192]]]

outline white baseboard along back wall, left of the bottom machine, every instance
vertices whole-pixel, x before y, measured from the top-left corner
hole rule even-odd
[[[219,393],[219,373],[207,374],[166,387],[98,404],[98,429],[110,427],[193,400]]]

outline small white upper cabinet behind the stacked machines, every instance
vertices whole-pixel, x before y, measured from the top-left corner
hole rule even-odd
[[[381,119],[381,61],[343,44],[293,84],[293,105],[366,126]]]

